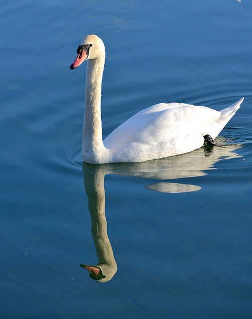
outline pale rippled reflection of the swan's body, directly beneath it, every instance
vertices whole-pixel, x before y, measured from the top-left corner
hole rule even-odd
[[[214,169],[214,164],[220,160],[240,157],[234,151],[241,147],[241,145],[226,144],[210,148],[204,147],[189,154],[181,154],[165,159],[138,163],[108,163],[100,166],[85,163],[83,167],[86,167],[89,172],[94,171],[94,173],[97,173],[99,167],[99,173],[104,175],[115,174],[162,180],[197,177],[206,175],[205,170]]]

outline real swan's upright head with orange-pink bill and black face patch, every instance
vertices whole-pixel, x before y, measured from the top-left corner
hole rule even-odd
[[[77,54],[76,60],[70,65],[71,70],[77,68],[85,60],[105,57],[104,43],[97,35],[85,36],[78,46]]]

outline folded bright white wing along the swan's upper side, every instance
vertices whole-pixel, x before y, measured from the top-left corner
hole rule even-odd
[[[104,140],[104,146],[119,149],[131,143],[156,145],[188,135],[211,135],[218,127],[220,115],[207,107],[160,103],[136,113],[120,125]]]

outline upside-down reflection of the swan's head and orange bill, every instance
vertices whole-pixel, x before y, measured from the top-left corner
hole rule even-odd
[[[116,262],[112,264],[98,264],[96,266],[80,265],[90,272],[90,277],[99,283],[105,283],[114,277],[117,272]]]

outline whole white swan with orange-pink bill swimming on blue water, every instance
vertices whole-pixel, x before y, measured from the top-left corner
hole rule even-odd
[[[213,144],[244,98],[216,111],[185,103],[159,103],[144,109],[102,139],[101,95],[105,45],[97,35],[84,37],[73,70],[87,61],[82,158],[90,164],[141,162],[194,151]]]

